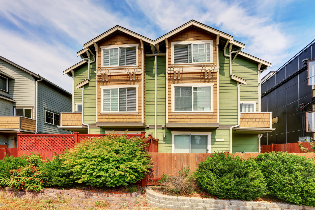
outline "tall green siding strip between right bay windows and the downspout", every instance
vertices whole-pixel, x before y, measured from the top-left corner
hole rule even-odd
[[[237,125],[237,82],[229,75],[229,58],[219,51],[220,125]]]

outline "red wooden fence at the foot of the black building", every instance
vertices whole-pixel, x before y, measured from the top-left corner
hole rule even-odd
[[[288,152],[288,153],[304,153],[301,148],[299,147],[299,145],[303,145],[306,149],[311,149],[311,145],[307,142],[297,142],[297,143],[289,143],[289,144],[270,144],[270,145],[262,145],[261,146],[261,153],[264,152],[280,152],[280,151],[284,151],[284,152]]]

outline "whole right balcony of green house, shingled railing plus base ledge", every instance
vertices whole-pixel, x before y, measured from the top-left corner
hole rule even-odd
[[[272,112],[241,112],[240,126],[236,133],[266,133],[273,131]]]

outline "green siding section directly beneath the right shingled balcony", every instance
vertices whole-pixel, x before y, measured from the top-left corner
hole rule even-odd
[[[233,152],[258,152],[258,134],[233,134]]]

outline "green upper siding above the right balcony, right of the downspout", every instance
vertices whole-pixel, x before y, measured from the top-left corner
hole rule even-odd
[[[237,56],[232,63],[232,73],[247,82],[240,87],[240,100],[256,101],[256,111],[258,111],[258,64]]]

